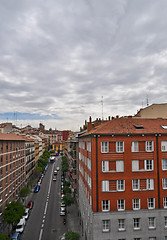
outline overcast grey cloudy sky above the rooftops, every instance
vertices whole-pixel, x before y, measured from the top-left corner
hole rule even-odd
[[[1,0],[0,122],[78,130],[167,102],[167,0]]]

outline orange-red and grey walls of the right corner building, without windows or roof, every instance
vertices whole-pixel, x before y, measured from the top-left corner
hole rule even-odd
[[[79,202],[81,209],[81,222],[83,231],[87,239],[134,239],[141,237],[157,237],[165,239],[167,230],[164,225],[164,217],[167,216],[166,208],[163,207],[163,197],[167,197],[167,189],[163,189],[163,178],[167,178],[167,171],[162,170],[162,159],[167,159],[167,151],[161,151],[161,141],[167,141],[167,135],[157,134],[138,134],[138,135],[94,135],[85,137],[79,141],[79,171],[80,171],[80,190]],[[91,153],[87,151],[87,142],[91,142]],[[116,142],[124,142],[124,152],[116,152]],[[140,143],[139,152],[132,152],[132,141]],[[146,152],[146,141],[153,141],[153,152]],[[109,152],[101,153],[101,142],[109,142]],[[83,147],[82,147],[83,146]],[[91,159],[91,170],[87,167],[87,159]],[[115,166],[116,160],[124,162],[124,171],[102,172],[102,161],[109,161],[110,167]],[[132,160],[139,160],[139,167],[144,167],[145,160],[153,160],[153,170],[151,171],[132,171]],[[88,175],[91,178],[91,187],[88,183]],[[145,182],[147,179],[154,179],[154,189],[132,189],[132,180],[140,179]],[[124,180],[125,189],[123,191],[102,192],[102,181],[109,180],[112,183],[117,180]],[[148,210],[148,198],[155,199],[155,209]],[[117,201],[125,200],[125,210],[117,210]],[[133,210],[133,199],[140,199],[140,210]],[[102,212],[102,200],[110,201],[109,212]],[[82,206],[83,205],[83,206]],[[91,206],[92,205],[92,206]],[[84,211],[92,208],[92,228],[88,224],[87,214]],[[148,217],[155,217],[156,228],[148,231]],[[136,231],[133,229],[133,219],[140,218],[141,228]],[[110,231],[102,231],[102,220],[109,220]],[[126,230],[118,231],[118,219],[125,219]],[[167,227],[167,226],[166,226]],[[92,234],[90,234],[92,232]],[[147,234],[146,234],[147,232]],[[92,235],[92,236],[91,236]],[[89,237],[88,237],[89,236]],[[85,238],[86,239],[86,238]]]

